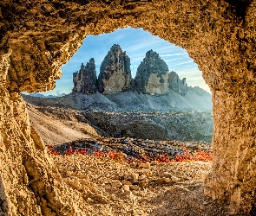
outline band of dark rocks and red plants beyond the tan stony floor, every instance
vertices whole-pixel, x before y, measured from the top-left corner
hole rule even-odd
[[[170,162],[212,160],[211,144],[98,137],[48,146],[54,155],[111,156],[118,162]],[[115,154],[116,153],[116,154]],[[116,157],[116,158],[115,158]]]

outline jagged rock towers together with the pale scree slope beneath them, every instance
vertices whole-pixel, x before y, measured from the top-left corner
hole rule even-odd
[[[42,99],[24,99],[34,105],[93,111],[212,110],[211,94],[187,86],[186,78],[169,72],[166,62],[153,50],[141,61],[135,79],[131,77],[128,55],[114,44],[102,61],[98,78],[92,58],[73,73],[73,82],[72,93],[61,98],[33,93]]]

